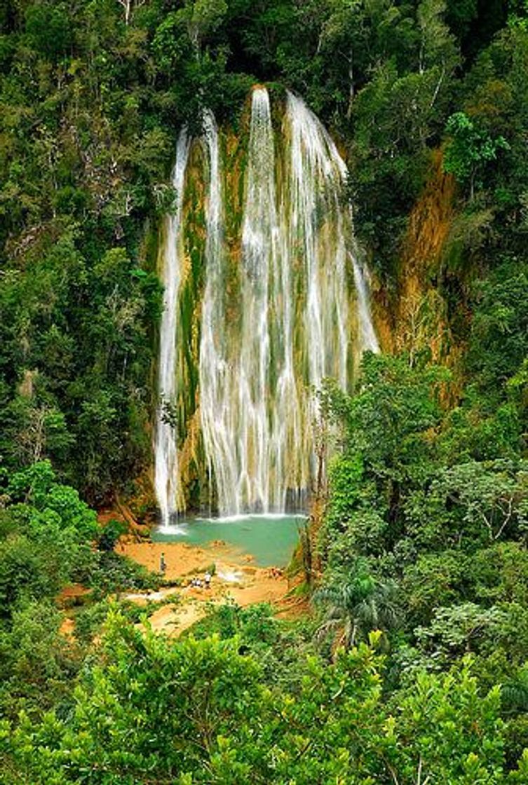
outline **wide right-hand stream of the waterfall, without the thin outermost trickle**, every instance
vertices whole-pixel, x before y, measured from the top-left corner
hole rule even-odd
[[[346,167],[336,145],[303,101],[288,93],[290,141],[283,197],[289,266],[306,287],[303,313],[308,375],[318,386],[326,376],[347,386],[350,344],[346,281],[347,210],[340,204]]]

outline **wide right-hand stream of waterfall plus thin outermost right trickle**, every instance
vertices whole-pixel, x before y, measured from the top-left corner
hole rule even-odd
[[[292,93],[287,97],[286,122],[292,154],[292,245],[299,244],[306,265],[310,382],[317,386],[322,378],[332,376],[347,389],[347,258],[354,272],[360,349],[379,351],[368,275],[354,247],[351,211],[342,203],[347,166],[325,126]]]

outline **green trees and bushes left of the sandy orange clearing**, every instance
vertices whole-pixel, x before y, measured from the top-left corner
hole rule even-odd
[[[83,582],[94,597],[156,586],[155,576],[104,550],[105,534],[49,462],[11,476],[0,509],[0,714],[40,716],[71,704],[86,651],[61,634],[64,586]]]

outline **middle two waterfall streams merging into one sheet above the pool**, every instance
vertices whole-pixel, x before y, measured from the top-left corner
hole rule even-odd
[[[266,89],[255,89],[252,98],[240,250],[240,318],[237,330],[231,331],[223,301],[228,273],[222,228],[219,220],[211,218],[221,201],[218,133],[211,120],[206,139],[210,162],[207,284],[200,345],[204,447],[221,513],[279,511],[284,509],[288,490],[286,453],[288,447],[295,450],[298,446],[300,421],[289,272],[280,254],[273,128]]]

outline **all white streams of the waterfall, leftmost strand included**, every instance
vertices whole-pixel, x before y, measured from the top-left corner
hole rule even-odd
[[[206,161],[207,239],[197,401],[218,511],[301,509],[314,478],[313,390],[325,377],[347,388],[354,345],[378,350],[368,278],[355,254],[351,212],[342,200],[347,168],[325,127],[292,93],[286,97],[276,148],[269,95],[255,88],[240,234],[233,240],[224,215],[226,189],[232,186],[229,173],[222,171],[222,145],[209,112],[200,144]],[[178,194],[188,154],[184,137],[174,170]],[[170,248],[174,255],[183,254],[180,217],[181,202],[165,254],[165,303],[171,313],[164,312],[162,339],[169,333],[173,341],[162,340],[159,389],[169,400],[174,396],[167,374],[174,380],[178,298],[178,265],[172,263],[175,258],[170,261]],[[168,277],[170,269],[174,279]],[[172,360],[167,361],[169,350]],[[156,491],[163,520],[174,510],[177,473],[174,432],[166,427],[160,413]]]

